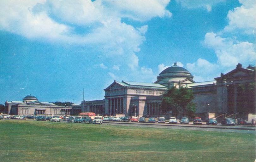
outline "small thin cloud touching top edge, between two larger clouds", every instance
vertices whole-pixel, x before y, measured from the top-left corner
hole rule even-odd
[[[176,0],[176,2],[181,3],[182,7],[205,8],[208,12],[211,12],[212,6],[224,1],[225,0]]]

